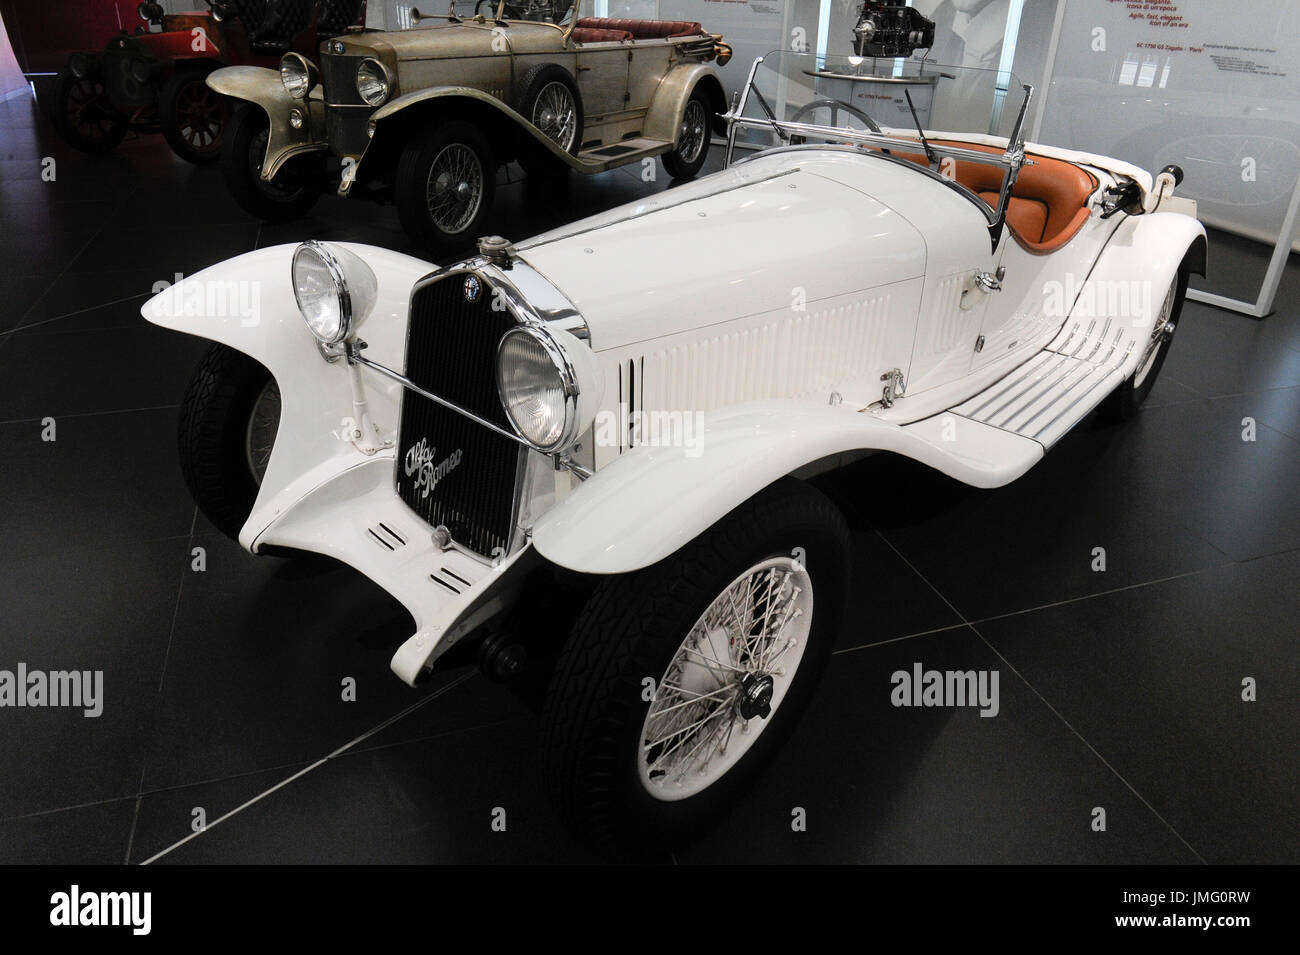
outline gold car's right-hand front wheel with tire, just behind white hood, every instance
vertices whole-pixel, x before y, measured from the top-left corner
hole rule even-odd
[[[456,248],[484,233],[497,192],[495,156],[476,126],[442,123],[402,151],[394,192],[412,239],[430,251]]]

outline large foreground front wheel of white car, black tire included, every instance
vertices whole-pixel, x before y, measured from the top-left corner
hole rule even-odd
[[[826,665],[849,560],[844,517],[788,478],[673,556],[602,581],[542,709],[546,785],[571,828],[640,852],[741,798]]]

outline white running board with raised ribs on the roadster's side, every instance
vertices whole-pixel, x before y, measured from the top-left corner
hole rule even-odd
[[[1066,325],[1046,348],[950,413],[1052,447],[1123,382],[1138,347],[1128,324],[1097,325]]]

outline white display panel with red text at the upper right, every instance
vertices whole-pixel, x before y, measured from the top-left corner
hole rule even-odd
[[[1197,200],[1206,225],[1290,246],[1300,181],[1294,3],[1065,4],[1037,138],[1152,170],[1178,164],[1187,174],[1179,192]],[[1266,255],[1253,256],[1251,281],[1212,269],[1204,287],[1223,294],[1232,282],[1234,296],[1249,298],[1262,285],[1260,301],[1271,300],[1280,266],[1266,274]]]

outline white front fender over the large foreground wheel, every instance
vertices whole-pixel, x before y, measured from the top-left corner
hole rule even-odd
[[[537,521],[533,546],[571,570],[629,573],[673,554],[779,478],[832,455],[893,451],[976,487],[1014,481],[1043,456],[1037,442],[978,422],[962,422],[961,440],[945,439],[942,417],[900,426],[796,400],[706,413],[698,434],[679,430],[682,440],[636,447],[588,478]]]

